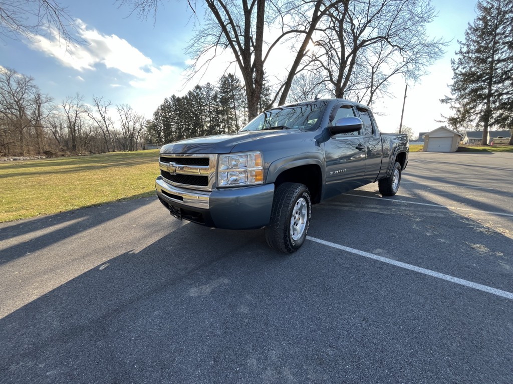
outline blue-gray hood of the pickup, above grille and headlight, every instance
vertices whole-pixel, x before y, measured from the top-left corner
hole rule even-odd
[[[162,154],[223,154],[230,153],[239,144],[248,144],[254,140],[261,140],[268,137],[275,139],[278,136],[298,135],[300,130],[270,130],[250,131],[231,135],[215,135],[185,139],[162,147]],[[255,145],[255,150],[257,149]]]

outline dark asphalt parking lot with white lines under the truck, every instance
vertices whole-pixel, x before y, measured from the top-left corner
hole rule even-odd
[[[0,382],[513,382],[513,154],[411,153],[308,234],[154,197],[0,224]]]

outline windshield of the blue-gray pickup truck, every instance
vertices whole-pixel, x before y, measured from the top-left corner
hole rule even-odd
[[[313,131],[319,126],[322,110],[326,104],[326,101],[318,101],[273,108],[255,117],[240,132],[272,129]]]

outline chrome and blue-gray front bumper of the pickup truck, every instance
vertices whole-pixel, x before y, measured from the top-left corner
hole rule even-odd
[[[155,189],[173,216],[209,227],[255,229],[269,224],[271,217],[274,184],[203,191],[175,187],[159,176]]]

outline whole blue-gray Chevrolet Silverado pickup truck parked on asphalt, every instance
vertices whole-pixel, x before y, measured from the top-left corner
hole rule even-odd
[[[269,246],[291,253],[312,204],[376,181],[395,195],[407,163],[407,137],[380,134],[368,106],[321,99],[265,111],[236,134],[164,145],[155,187],[177,219],[265,227]]]

